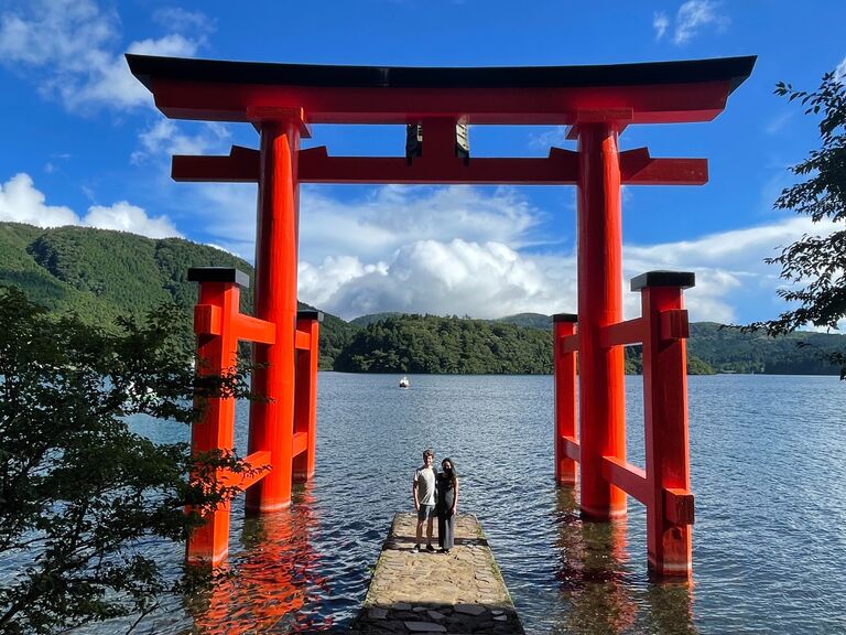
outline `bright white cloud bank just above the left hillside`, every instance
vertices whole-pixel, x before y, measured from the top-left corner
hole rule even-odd
[[[29,174],[20,173],[0,184],[0,222],[29,223],[39,227],[82,225],[120,229],[150,238],[182,236],[166,216],[152,217],[141,207],[120,201],[112,205],[91,205],[80,217],[63,205],[47,205]]]

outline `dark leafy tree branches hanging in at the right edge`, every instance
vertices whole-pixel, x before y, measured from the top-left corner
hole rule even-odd
[[[793,209],[810,216],[814,223],[831,222],[838,228],[827,236],[804,235],[782,249],[768,262],[781,267],[781,278],[789,286],[779,290],[793,308],[777,320],[758,322],[752,327],[768,333],[790,333],[807,324],[837,329],[846,316],[846,84],[834,73],[823,76],[820,88],[812,93],[796,90],[780,83],[776,94],[799,100],[806,115],[820,116],[821,148],[791,170],[804,177],[787,187],[776,201],[779,209]],[[842,364],[846,378],[846,357],[829,355]]]

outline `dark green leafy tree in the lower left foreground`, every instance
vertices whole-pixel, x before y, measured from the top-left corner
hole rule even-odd
[[[153,443],[126,419],[188,423],[194,395],[197,403],[245,395],[237,372],[195,380],[174,335],[181,319],[162,306],[107,331],[0,287],[0,632],[53,633],[150,610],[172,582],[145,541],[185,539],[199,521],[186,503],[205,509],[234,494],[212,474],[246,470],[236,456],[195,462],[188,444]],[[192,471],[202,478],[189,486]]]

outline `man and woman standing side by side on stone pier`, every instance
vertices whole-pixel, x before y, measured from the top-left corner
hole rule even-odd
[[[458,475],[452,459],[441,462],[443,472],[433,467],[435,453],[423,452],[423,465],[414,472],[411,495],[414,509],[417,510],[417,542],[412,549],[420,551],[423,541],[423,523],[426,523],[426,551],[434,551],[432,546],[432,525],[437,516],[437,545],[442,553],[449,553],[455,545],[455,512],[458,506]]]

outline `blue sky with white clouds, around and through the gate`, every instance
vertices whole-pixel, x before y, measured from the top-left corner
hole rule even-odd
[[[245,9],[247,8],[247,9]],[[614,64],[758,55],[715,121],[636,126],[622,149],[709,160],[705,186],[626,187],[623,276],[695,271],[693,320],[784,309],[762,259],[812,228],[772,202],[818,147],[815,121],[772,95],[846,72],[846,3],[499,0],[0,0],[0,220],[182,236],[252,260],[256,186],[169,179],[172,153],[258,146],[247,125],[169,121],[123,53],[386,66]],[[403,153],[393,127],[316,126],[304,147]],[[473,127],[474,155],[574,149],[554,127]],[[377,311],[495,318],[575,312],[568,186],[303,186],[300,298]],[[639,312],[626,297],[627,316]]]

